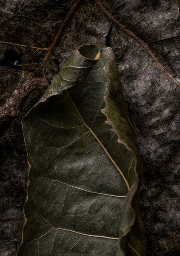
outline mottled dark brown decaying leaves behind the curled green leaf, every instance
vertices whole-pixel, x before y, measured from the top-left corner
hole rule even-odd
[[[34,77],[76,2],[0,2],[0,61],[9,49],[23,53],[22,70],[0,66],[0,256],[16,255],[24,223],[28,163],[21,119],[40,99],[58,68],[83,43],[106,44],[114,50],[143,158],[140,207],[147,255],[178,256],[180,1],[80,1],[43,72]],[[104,12],[97,2],[103,4]]]

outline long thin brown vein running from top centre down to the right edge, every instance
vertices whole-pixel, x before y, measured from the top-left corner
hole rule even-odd
[[[100,9],[120,28],[122,29],[124,32],[126,32],[128,35],[130,35],[132,38],[134,38],[137,42],[139,42],[141,45],[143,45],[143,47],[149,52],[149,54],[151,55],[151,57],[154,59],[154,61],[157,63],[157,65],[166,73],[166,75],[168,75],[170,77],[170,79],[172,81],[174,81],[175,84],[177,84],[178,86],[180,86],[180,84],[178,83],[178,81],[176,81],[171,74],[169,74],[162,66],[162,64],[160,64],[160,62],[157,60],[157,58],[155,57],[154,53],[151,52],[151,50],[149,49],[148,45],[143,42],[143,40],[141,40],[140,38],[138,38],[136,35],[134,35],[131,31],[129,31],[128,29],[126,29],[122,24],[120,24],[114,17],[111,16],[111,14],[104,8],[104,6],[102,5],[102,3],[100,3],[98,0],[94,0],[95,3],[97,3],[97,5],[100,7]]]

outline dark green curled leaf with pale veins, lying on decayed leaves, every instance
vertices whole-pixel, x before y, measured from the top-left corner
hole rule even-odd
[[[30,171],[17,256],[146,255],[142,163],[111,48],[77,49],[22,123]]]

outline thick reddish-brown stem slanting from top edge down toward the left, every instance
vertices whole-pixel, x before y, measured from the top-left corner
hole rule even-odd
[[[77,9],[77,6],[80,4],[80,1],[81,1],[81,0],[77,0],[77,1],[76,1],[76,3],[75,3],[74,6],[71,8],[71,10],[70,10],[70,12],[68,13],[68,15],[66,16],[66,18],[63,20],[63,23],[62,23],[62,25],[60,26],[59,31],[57,32],[57,34],[56,34],[56,36],[55,36],[55,38],[54,38],[54,40],[53,40],[51,46],[49,47],[48,52],[47,52],[46,55],[45,55],[45,58],[44,58],[43,61],[42,61],[43,64],[37,69],[36,76],[39,75],[39,73],[41,72],[41,70],[42,70],[43,67],[46,65],[47,61],[49,60],[49,57],[50,57],[50,55],[51,55],[51,53],[52,53],[52,51],[53,51],[55,45],[57,44],[57,41],[58,41],[58,39],[59,39],[59,37],[60,37],[60,35],[61,35],[61,33],[62,33],[64,27],[65,27],[66,24],[69,22],[71,16],[74,14],[75,10]]]

